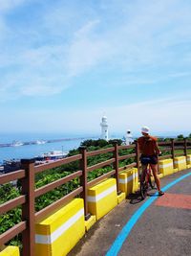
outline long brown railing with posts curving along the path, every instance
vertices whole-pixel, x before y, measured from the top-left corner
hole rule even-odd
[[[171,140],[170,142],[159,142],[160,150],[166,155],[159,156],[159,159],[165,158],[175,158],[178,155],[187,155],[187,151],[191,149],[191,142],[186,139],[182,141]],[[120,155],[119,151],[123,150],[133,150],[134,152]],[[182,151],[182,152],[177,152]],[[113,157],[101,162],[96,165],[88,166],[88,157],[96,156],[99,154],[104,154],[112,152]],[[126,166],[119,168],[119,162],[125,159],[132,159],[132,163]],[[53,181],[43,187],[35,189],[35,175],[42,173],[46,170],[50,170],[62,165],[72,163],[74,161],[79,162],[79,169],[76,170],[71,175],[67,175],[63,178],[60,178],[56,181]],[[32,159],[23,159],[21,160],[22,170],[13,172],[7,175],[0,176],[0,186],[11,182],[13,180],[20,180],[21,182],[21,193],[22,195],[18,198],[13,198],[0,205],[0,214],[7,213],[11,209],[21,206],[22,208],[22,221],[15,224],[8,231],[0,235],[0,247],[3,244],[8,243],[12,238],[18,234],[22,234],[22,244],[23,250],[22,254],[24,256],[33,256],[34,255],[34,223],[35,221],[40,221],[45,218],[56,208],[65,205],[72,198],[78,196],[84,199],[84,211],[85,211],[85,220],[88,220],[90,214],[88,213],[88,203],[87,203],[87,192],[88,188],[95,185],[97,182],[110,177],[115,176],[117,179],[117,193],[119,194],[118,188],[118,174],[123,170],[128,170],[132,167],[137,167],[139,170],[139,151],[138,151],[138,142],[131,146],[118,146],[117,143],[114,147],[99,150],[99,151],[87,151],[85,147],[80,148],[80,153],[74,156],[70,156],[61,160],[54,161],[53,163],[42,164],[39,166],[34,166],[34,161]],[[101,176],[96,177],[95,179],[88,181],[88,173],[95,171],[98,168],[103,168],[105,166],[113,166],[113,169]],[[46,208],[35,212],[34,202],[35,198],[38,198],[53,189],[66,184],[69,181],[74,180],[74,178],[79,177],[80,184],[74,191],[69,193],[53,202],[51,205]],[[2,196],[2,195],[1,195]]]

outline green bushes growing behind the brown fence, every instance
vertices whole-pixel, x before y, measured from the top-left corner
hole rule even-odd
[[[178,136],[178,139],[182,140],[182,135],[180,134]],[[189,139],[191,140],[191,133],[189,134]],[[170,139],[163,139],[163,141],[168,141]],[[122,140],[86,140],[81,143],[80,147],[86,147],[87,151],[98,151],[101,149],[107,149],[111,148],[115,145],[117,141],[118,145],[122,144]],[[131,150],[120,150],[118,151],[118,154],[125,155],[135,152],[134,149]],[[188,151],[191,153],[191,151]],[[75,154],[80,153],[80,148],[76,150],[69,151],[68,156],[73,156]],[[164,151],[162,153],[163,155],[169,154],[169,151]],[[106,161],[113,158],[113,152],[107,152],[107,153],[101,153],[97,154],[95,156],[89,156],[88,157],[88,167],[96,165],[97,163]],[[130,158],[126,160],[119,161],[119,167],[128,165],[135,162],[135,158]],[[96,169],[93,172],[88,173],[88,181],[91,181],[95,179],[96,177],[100,175],[104,175],[114,169],[113,164],[105,166],[104,168]],[[60,179],[64,176],[71,175],[74,172],[80,170],[79,161],[74,161],[70,164],[66,164],[48,171],[45,171],[43,173],[40,173],[38,175],[35,175],[35,188],[40,188],[46,184],[49,184],[53,182],[54,180]],[[35,199],[35,210],[39,211],[46,206],[53,203],[53,201],[63,198],[65,195],[71,193],[80,186],[80,180],[79,178],[74,178],[74,180],[67,182],[66,184],[59,186],[58,188],[54,189],[53,191],[40,196]],[[3,195],[3,197],[0,198],[0,203],[4,203],[11,198],[16,198],[19,195],[21,195],[21,186],[18,182],[17,187],[14,187],[11,183],[5,184],[3,186],[0,186],[0,195]],[[14,224],[21,221],[21,207],[14,208],[10,212],[3,214],[0,216],[0,234],[11,228]],[[20,235],[14,238],[10,244],[20,244]]]

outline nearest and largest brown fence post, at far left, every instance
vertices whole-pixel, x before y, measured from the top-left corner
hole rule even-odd
[[[23,256],[34,256],[34,160],[21,159],[21,168],[25,169],[26,177],[21,179],[22,194],[27,201],[22,205],[22,221],[27,221],[27,229],[22,232]]]

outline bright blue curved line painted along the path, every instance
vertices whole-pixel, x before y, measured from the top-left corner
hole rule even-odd
[[[183,178],[187,177],[191,175],[191,173],[187,174],[187,175],[182,175],[179,178],[177,178],[176,180],[172,181],[171,183],[169,183],[168,185],[166,185],[165,187],[162,188],[162,191],[167,191],[169,188],[171,188],[172,186],[174,186],[175,184],[177,184],[178,182],[180,182]],[[139,208],[138,210],[135,212],[135,214],[131,217],[131,219],[126,223],[126,225],[122,228],[122,230],[120,231],[120,233],[117,236],[117,239],[115,240],[114,244],[112,244],[112,246],[110,247],[110,249],[108,250],[108,252],[106,253],[106,256],[116,256],[118,251],[120,250],[122,244],[124,243],[124,241],[127,239],[130,231],[132,230],[132,228],[134,227],[134,225],[136,224],[136,222],[138,221],[138,219],[140,218],[140,216],[143,214],[143,212],[151,205],[151,203],[156,200],[158,197],[155,197],[158,195],[158,192],[154,195],[154,197],[152,198],[148,198]]]

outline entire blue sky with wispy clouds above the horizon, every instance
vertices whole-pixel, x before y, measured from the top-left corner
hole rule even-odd
[[[0,0],[1,131],[191,132],[189,0]]]

